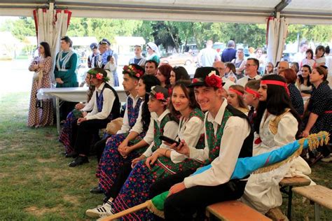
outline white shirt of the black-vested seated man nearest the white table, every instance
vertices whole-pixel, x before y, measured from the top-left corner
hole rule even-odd
[[[98,88],[95,89],[95,93],[93,94],[96,96],[96,93],[100,94],[102,92],[102,89],[104,87],[105,83],[102,83],[99,85]],[[113,103],[116,99],[115,94],[113,91],[107,87],[105,87],[104,92],[102,93],[104,101],[103,101],[103,106],[102,106],[102,111],[98,112],[97,108],[97,99],[95,99],[95,102],[93,104],[93,109],[90,113],[86,115],[86,120],[104,120],[107,117],[109,117],[109,114],[111,113],[111,110],[113,108]],[[99,95],[100,96],[100,95]]]

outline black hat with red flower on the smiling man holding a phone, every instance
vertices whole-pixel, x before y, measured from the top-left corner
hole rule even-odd
[[[223,80],[219,76],[219,71],[213,67],[205,66],[196,69],[191,84],[188,87],[207,86],[221,88]]]

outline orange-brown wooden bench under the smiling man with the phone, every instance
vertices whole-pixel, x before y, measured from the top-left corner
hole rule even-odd
[[[214,215],[220,220],[229,221],[242,221],[242,220],[253,220],[253,221],[265,221],[270,220],[265,215],[255,211],[253,208],[243,204],[240,201],[224,201],[217,204],[207,206],[207,217]]]

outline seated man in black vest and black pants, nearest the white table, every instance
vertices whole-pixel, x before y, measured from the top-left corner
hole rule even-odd
[[[88,163],[88,153],[92,136],[97,135],[99,129],[105,128],[106,125],[120,115],[120,101],[116,91],[106,82],[107,73],[104,69],[90,69],[88,73],[92,76],[91,83],[95,85],[95,104],[90,113],[85,117],[77,120],[77,127],[73,128],[73,135],[76,136],[74,152],[71,157],[78,155],[76,159],[69,164],[74,167]]]

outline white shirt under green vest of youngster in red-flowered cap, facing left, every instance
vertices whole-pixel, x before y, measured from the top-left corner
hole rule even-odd
[[[160,123],[162,121],[162,119],[167,115],[167,113],[170,113],[170,110],[166,109],[159,117],[155,112],[151,113],[151,120],[150,120],[150,124],[148,125],[148,131],[146,132],[146,136],[144,136],[144,141],[148,144],[150,144],[150,146],[148,147],[148,149],[146,149],[146,151],[143,153],[144,156],[146,157],[150,157],[152,155],[152,147],[154,145],[153,142],[153,138],[154,138],[154,121],[157,122],[158,127],[160,127]],[[177,124],[177,122],[170,120],[169,122],[167,122],[165,124],[164,127],[164,136],[167,136],[171,139],[175,139],[177,137],[177,130],[179,128],[179,124]],[[164,143],[162,143],[160,145],[159,148],[165,148],[167,149],[167,145],[165,145]]]

